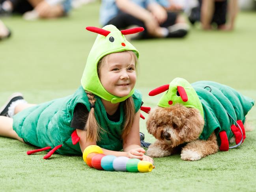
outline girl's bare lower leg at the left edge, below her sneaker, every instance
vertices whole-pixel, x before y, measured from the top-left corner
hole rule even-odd
[[[24,142],[22,138],[13,130],[13,119],[0,116],[0,136],[17,139]]]

